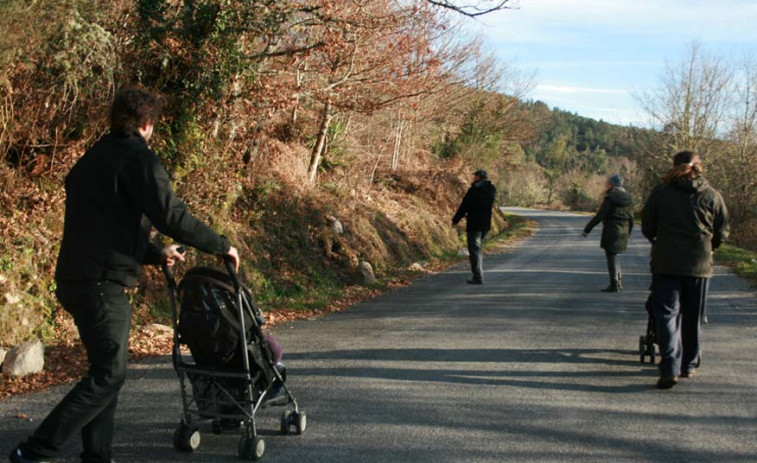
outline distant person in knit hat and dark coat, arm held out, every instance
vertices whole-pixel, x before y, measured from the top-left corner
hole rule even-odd
[[[617,293],[623,288],[618,254],[626,252],[628,238],[633,230],[633,200],[623,188],[623,177],[619,174],[614,174],[607,179],[605,199],[599,211],[584,227],[581,236],[588,236],[600,222],[602,222],[602,240],[599,245],[605,250],[607,271],[610,274],[610,286],[602,291]]]

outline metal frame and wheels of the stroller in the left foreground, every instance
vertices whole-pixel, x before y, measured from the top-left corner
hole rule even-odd
[[[238,320],[241,325],[240,349],[242,350],[242,369],[208,368],[188,363],[181,353],[181,341],[178,333],[178,310],[176,299],[179,287],[171,270],[163,265],[163,274],[169,290],[171,306],[171,323],[173,327],[173,347],[171,357],[174,369],[179,376],[182,418],[173,436],[174,448],[179,451],[193,452],[200,446],[200,431],[197,423],[212,420],[214,434],[221,434],[224,430],[241,427],[242,435],[237,446],[237,453],[245,460],[257,461],[265,453],[265,440],[258,435],[255,415],[265,408],[267,397],[274,385],[278,384],[286,394],[285,404],[292,405],[293,410],[285,410],[281,415],[281,433],[287,434],[292,426],[296,434],[300,435],[307,426],[307,416],[300,411],[297,400],[286,385],[281,372],[273,361],[270,350],[261,348],[263,361],[271,369],[274,380],[264,389],[258,390],[256,383],[264,374],[262,370],[253,372],[247,350],[247,329],[245,328],[245,312],[252,319],[252,329],[261,344],[262,325],[265,318],[260,310],[251,302],[250,296],[243,290],[242,283],[234,270],[232,261],[224,259],[226,270],[234,284],[234,296]],[[262,346],[261,346],[262,347]],[[241,424],[241,425],[240,425]]]

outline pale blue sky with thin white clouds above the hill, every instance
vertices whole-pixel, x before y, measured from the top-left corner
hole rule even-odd
[[[649,126],[634,94],[666,63],[701,50],[757,54],[757,0],[513,0],[470,21],[487,48],[525,75],[528,98],[607,122]]]

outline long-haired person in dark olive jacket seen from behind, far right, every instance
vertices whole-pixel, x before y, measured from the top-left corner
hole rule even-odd
[[[729,231],[723,198],[702,176],[697,154],[682,151],[673,157],[673,168],[644,205],[641,231],[652,243],[650,306],[662,357],[657,387],[669,389],[699,365],[712,253]]]

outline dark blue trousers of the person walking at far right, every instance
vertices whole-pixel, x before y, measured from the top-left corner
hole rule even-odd
[[[700,315],[707,278],[653,275],[650,306],[657,319],[660,372],[678,376],[699,364]]]

